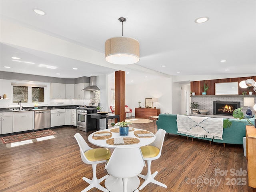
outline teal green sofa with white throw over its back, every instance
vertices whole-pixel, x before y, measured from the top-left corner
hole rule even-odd
[[[223,118],[224,120],[225,118]],[[166,130],[167,133],[177,134],[182,136],[187,136],[191,138],[197,138],[194,136],[188,136],[185,134],[179,134],[177,128],[177,115],[176,114],[160,114],[158,120],[156,121],[157,129]],[[201,138],[202,140],[209,140],[217,143],[225,144],[243,144],[243,137],[245,134],[246,120],[245,119],[229,119],[232,122],[232,125],[229,128],[223,129],[222,139],[210,139],[210,138]],[[249,119],[252,124],[254,124],[254,118]]]

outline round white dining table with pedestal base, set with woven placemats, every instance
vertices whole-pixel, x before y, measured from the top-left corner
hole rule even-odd
[[[152,134],[152,137],[142,138],[142,137],[137,137],[134,134],[134,131],[145,131],[145,130],[137,129],[137,128],[133,128],[132,130],[133,131],[129,131],[128,136],[119,136],[119,132],[111,132],[111,129],[99,130],[90,134],[88,136],[88,141],[96,146],[106,147],[106,148],[134,148],[134,147],[142,147],[142,146],[149,145],[150,143],[154,142],[154,140],[156,139],[156,136],[152,132],[150,132]],[[136,144],[111,145],[106,143],[106,140],[111,138],[103,139],[103,140],[98,140],[93,138],[94,134],[100,134],[102,132],[111,132],[112,134],[111,138],[137,138],[138,140],[140,140],[140,142]],[[133,192],[139,187],[139,185],[140,185],[140,179],[138,178],[138,176],[129,178],[127,183],[127,192]],[[105,180],[105,187],[111,192],[122,192],[123,191],[122,178],[115,178],[111,175],[108,176]]]

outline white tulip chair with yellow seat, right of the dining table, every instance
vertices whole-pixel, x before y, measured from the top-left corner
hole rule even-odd
[[[156,174],[158,174],[158,171],[151,174],[151,162],[152,160],[156,160],[160,158],[163,144],[164,144],[164,136],[166,134],[166,131],[163,129],[159,129],[156,132],[156,140],[152,142],[152,144],[147,146],[140,147],[142,155],[144,157],[144,160],[147,161],[148,166],[148,172],[146,175],[139,174],[138,176],[143,178],[145,181],[141,184],[139,187],[139,190],[142,190],[147,184],[154,183],[159,186],[167,188],[167,186],[157,180],[154,179]]]

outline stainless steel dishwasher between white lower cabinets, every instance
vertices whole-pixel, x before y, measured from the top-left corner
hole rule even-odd
[[[34,129],[44,129],[51,127],[51,110],[34,111]]]

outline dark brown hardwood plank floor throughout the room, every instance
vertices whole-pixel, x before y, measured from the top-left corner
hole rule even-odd
[[[132,126],[154,132],[154,124],[150,128],[149,124]],[[88,142],[87,137],[92,132],[82,132],[76,127],[53,130],[57,132],[53,139],[16,147],[0,144],[1,192],[80,192],[88,186],[82,177],[92,178],[92,167],[82,162],[74,134],[80,132]],[[247,174],[232,176],[232,169],[247,170],[242,145],[226,144],[224,148],[222,144],[210,145],[197,139],[192,142],[183,136],[166,134],[162,155],[152,162],[152,172],[158,170],[156,180],[168,188],[148,184],[142,191],[256,192],[248,187]],[[145,167],[142,174],[146,174],[146,170]],[[221,176],[224,171],[228,172]],[[98,164],[98,178],[105,174],[104,164]],[[143,179],[140,181],[142,183]],[[101,184],[104,186],[104,182]]]

